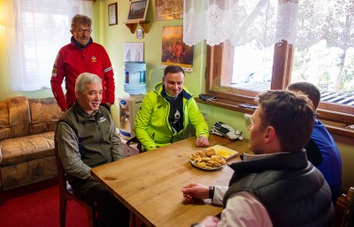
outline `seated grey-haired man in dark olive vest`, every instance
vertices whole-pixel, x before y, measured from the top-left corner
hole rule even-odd
[[[91,176],[93,167],[123,158],[119,136],[108,110],[100,106],[102,81],[84,72],[76,79],[76,101],[56,128],[58,153],[73,193],[96,204],[97,227],[129,226],[129,211]]]

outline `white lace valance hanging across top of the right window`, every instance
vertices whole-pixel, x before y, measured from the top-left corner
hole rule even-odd
[[[354,0],[184,0],[183,41],[208,45],[286,40],[298,49],[321,40],[354,47]]]

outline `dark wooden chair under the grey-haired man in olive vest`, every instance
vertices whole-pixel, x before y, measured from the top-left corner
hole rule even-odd
[[[91,206],[88,203],[84,202],[78,196],[73,194],[73,189],[71,185],[67,183],[67,175],[61,163],[59,154],[58,154],[58,144],[57,140],[55,141],[55,154],[57,159],[58,167],[58,181],[59,181],[59,200],[60,200],[60,210],[59,210],[59,219],[60,227],[65,227],[66,220],[66,205],[67,201],[77,201],[82,207],[86,208],[89,219],[89,227],[96,226],[96,208]]]

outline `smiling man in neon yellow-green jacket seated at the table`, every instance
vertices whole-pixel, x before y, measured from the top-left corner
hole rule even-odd
[[[135,118],[135,133],[146,150],[184,139],[189,123],[196,129],[196,147],[209,146],[209,127],[183,84],[183,69],[169,65],[162,82],[144,97]]]

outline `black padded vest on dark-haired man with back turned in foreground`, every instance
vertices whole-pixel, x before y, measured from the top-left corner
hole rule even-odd
[[[232,163],[235,170],[224,197],[246,191],[265,206],[274,227],[332,226],[331,191],[304,151]]]

